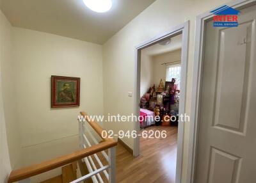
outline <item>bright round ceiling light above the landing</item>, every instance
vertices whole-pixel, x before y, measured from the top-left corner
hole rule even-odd
[[[83,0],[84,4],[94,12],[108,12],[112,7],[111,0]]]

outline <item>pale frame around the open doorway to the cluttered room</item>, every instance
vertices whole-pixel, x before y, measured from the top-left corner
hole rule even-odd
[[[134,81],[134,114],[140,115],[140,68],[141,68],[141,50],[150,45],[154,45],[166,38],[182,34],[182,51],[181,51],[181,75],[180,75],[180,102],[179,113],[185,113],[185,97],[187,84],[187,65],[188,65],[188,35],[189,35],[189,21],[180,24],[171,29],[167,33],[156,36],[143,44],[135,47],[135,81]],[[134,130],[140,132],[140,123],[134,123]],[[184,123],[179,123],[178,139],[177,139],[177,165],[176,165],[176,182],[180,183],[182,173],[182,155],[183,155],[183,137],[184,137]],[[133,155],[137,157],[140,155],[140,137],[134,138],[133,141]]]

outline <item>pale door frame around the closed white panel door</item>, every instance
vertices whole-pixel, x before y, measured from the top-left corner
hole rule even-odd
[[[256,4],[256,0],[236,0],[230,1],[223,5],[230,6],[241,10],[248,6]],[[212,10],[215,10],[213,8]],[[196,35],[195,35],[195,55],[193,65],[193,81],[192,81],[192,101],[191,101],[191,115],[189,127],[189,147],[188,147],[188,169],[187,169],[187,183],[195,182],[196,173],[196,152],[198,150],[198,129],[200,121],[200,102],[202,96],[202,68],[204,67],[204,42],[205,42],[205,22],[211,20],[212,13],[205,12],[196,17]]]

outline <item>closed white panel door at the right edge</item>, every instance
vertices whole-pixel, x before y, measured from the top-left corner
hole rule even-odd
[[[195,183],[256,182],[256,6],[205,29]]]

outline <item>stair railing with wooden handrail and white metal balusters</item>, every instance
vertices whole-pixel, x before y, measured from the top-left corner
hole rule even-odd
[[[102,128],[100,125],[93,120],[90,120],[86,113],[81,112],[81,115],[86,118],[88,124],[99,135],[100,141],[97,140],[97,138],[93,136],[92,131],[86,127],[86,122],[79,122],[80,150],[39,164],[34,164],[25,168],[20,168],[18,170],[12,170],[8,179],[8,183],[29,183],[30,177],[53,170],[55,168],[60,168],[61,166],[74,163],[81,159],[83,159],[84,163],[86,164],[89,173],[72,181],[72,183],[83,182],[89,178],[92,178],[93,183],[97,183],[98,181],[102,183],[103,179],[100,176],[100,172],[104,173],[109,183],[115,183],[115,147],[117,142],[113,139],[103,138]],[[88,138],[93,141],[93,144],[89,141]],[[105,150],[108,150],[108,155],[106,154]],[[103,157],[108,161],[108,165],[104,166],[102,164],[97,153],[101,153],[103,155]],[[99,169],[96,168],[92,155],[100,165]]]

